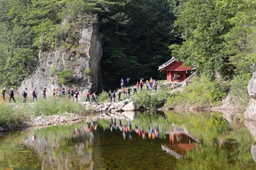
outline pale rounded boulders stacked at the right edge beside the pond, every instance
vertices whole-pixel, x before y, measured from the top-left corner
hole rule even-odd
[[[244,118],[251,121],[256,121],[256,71],[252,75],[247,87],[248,94],[252,97],[249,105],[244,113]]]

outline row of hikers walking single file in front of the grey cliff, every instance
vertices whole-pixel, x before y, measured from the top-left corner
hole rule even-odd
[[[5,87],[3,87],[1,89],[2,100],[4,101],[4,103],[6,103],[6,100],[5,100],[6,90],[7,89]],[[13,99],[13,101],[16,102],[15,99],[14,99],[14,91],[13,90],[14,89],[11,88],[11,90],[9,91],[9,97],[10,97],[9,102],[11,102],[11,99]],[[46,91],[46,87],[43,87],[43,89],[41,91],[43,99],[46,99],[46,92],[47,92]],[[37,101],[38,93],[37,93],[37,88],[36,87],[33,89],[33,91],[31,91],[31,94],[33,96],[33,102],[35,102],[35,100]],[[27,96],[28,96],[28,89],[27,88],[25,88],[22,91],[22,96],[24,98],[23,103],[26,103]],[[56,89],[53,89],[53,91],[52,91],[52,99],[54,100],[57,96],[59,98],[62,98],[63,96],[67,96],[67,98],[69,98],[70,100],[72,100],[72,101],[76,100],[76,102],[77,102],[78,101],[78,96],[80,96],[80,94],[79,94],[78,89],[74,90],[74,89],[68,88],[68,90],[65,91],[65,88],[62,88],[62,89],[59,89],[59,92],[57,92]],[[90,102],[90,97],[92,98],[92,102],[93,101],[96,102],[96,100],[95,100],[96,92],[95,91],[93,92],[93,94],[90,94],[90,91],[87,92],[87,94],[86,94],[86,98],[87,98],[86,101],[89,100],[89,102]]]

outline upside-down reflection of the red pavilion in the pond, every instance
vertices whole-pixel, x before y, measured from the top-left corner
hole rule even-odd
[[[180,158],[181,155],[185,155],[187,151],[195,149],[197,144],[195,140],[184,133],[170,132],[170,142],[162,145],[162,149],[167,153]]]

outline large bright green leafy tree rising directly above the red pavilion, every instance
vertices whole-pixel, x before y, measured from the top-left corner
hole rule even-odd
[[[223,35],[233,27],[229,19],[237,9],[230,4],[222,6],[219,0],[181,1],[177,8],[175,26],[185,41],[170,46],[173,55],[212,80],[216,72],[226,79],[232,77],[232,64],[223,53],[226,45]]]

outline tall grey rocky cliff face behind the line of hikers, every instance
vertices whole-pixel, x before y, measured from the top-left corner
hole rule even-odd
[[[67,91],[70,87],[79,90],[81,96],[78,100],[82,101],[88,90],[98,91],[102,86],[101,57],[102,46],[98,26],[85,25],[80,31],[79,47],[76,51],[39,51],[39,63],[35,74],[24,79],[18,92],[21,94],[24,88],[28,88],[28,93],[31,93],[37,87],[38,95],[41,96],[41,90],[46,87],[47,98],[51,98],[54,88],[58,92],[58,89],[64,87]]]

